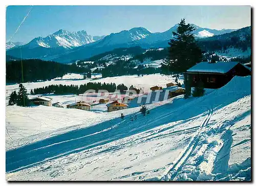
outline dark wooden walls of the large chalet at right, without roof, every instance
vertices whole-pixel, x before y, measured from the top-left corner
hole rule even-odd
[[[220,88],[234,76],[248,76],[251,75],[251,71],[241,63],[238,63],[229,69],[227,73],[186,72],[185,74],[187,75],[187,80],[191,83],[191,87],[195,87],[198,81],[202,80],[204,88]]]

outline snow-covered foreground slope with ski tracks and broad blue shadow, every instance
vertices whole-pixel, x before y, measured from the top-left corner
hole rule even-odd
[[[200,98],[179,96],[148,105],[150,113],[144,117],[139,107],[92,113],[90,119],[88,111],[79,111],[77,118],[82,122],[75,119],[77,125],[59,125],[58,129],[49,126],[44,132],[38,125],[37,134],[18,139],[15,135],[22,135],[25,128],[38,121],[42,128],[54,118],[52,123],[56,125],[71,122],[68,112],[73,110],[66,109],[67,114],[61,114],[59,120],[58,109],[65,108],[7,107],[7,115],[19,109],[18,114],[7,117],[7,130],[20,132],[7,136],[11,142],[7,144],[15,147],[6,152],[6,178],[250,180],[250,83],[251,77],[234,77],[224,87]],[[124,120],[120,119],[121,113]],[[131,121],[134,114],[137,119]],[[32,115],[36,122],[28,120]],[[22,125],[23,120],[19,122],[19,117],[27,118],[27,126]]]

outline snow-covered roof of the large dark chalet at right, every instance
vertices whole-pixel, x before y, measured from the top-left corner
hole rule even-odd
[[[196,64],[195,66],[189,68],[187,72],[206,72],[206,73],[221,73],[225,74],[234,66],[236,66],[239,62],[223,62],[219,61],[216,63],[209,62],[201,62]]]

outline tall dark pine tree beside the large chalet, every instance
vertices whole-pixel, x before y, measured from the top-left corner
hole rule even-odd
[[[162,64],[165,74],[185,72],[191,66],[202,60],[202,51],[197,46],[193,31],[195,28],[181,19],[177,32],[173,32],[174,39],[168,42],[168,56]]]

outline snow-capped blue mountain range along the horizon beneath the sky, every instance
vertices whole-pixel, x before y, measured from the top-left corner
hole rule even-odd
[[[196,38],[207,38],[225,33],[232,29],[208,29],[192,24]],[[54,60],[61,63],[85,59],[113,49],[140,46],[144,49],[166,47],[173,37],[178,24],[165,32],[152,33],[143,27],[111,33],[107,36],[91,36],[86,31],[69,32],[58,30],[47,37],[36,37],[27,44],[6,43],[7,55],[23,58]],[[8,45],[8,47],[7,47]],[[13,47],[12,47],[13,46]]]

